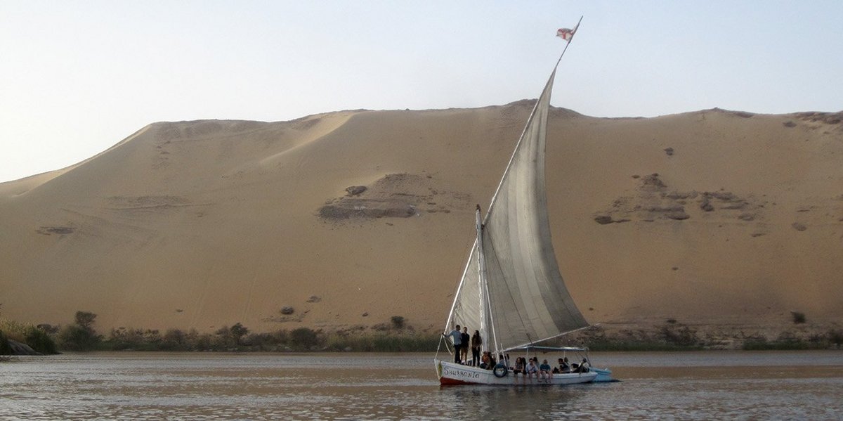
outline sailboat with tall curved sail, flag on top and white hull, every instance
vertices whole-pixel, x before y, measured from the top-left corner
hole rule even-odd
[[[507,359],[508,355],[520,352],[527,355],[550,352],[560,356],[588,353],[587,348],[540,346],[550,339],[589,327],[568,293],[556,262],[545,194],[550,92],[556,68],[578,27],[579,23],[573,30],[557,32],[567,44],[534,105],[484,218],[477,205],[477,238],[445,324],[444,332],[455,325],[470,327],[470,332],[479,331],[482,351],[500,362],[482,368],[459,364],[453,358],[439,359],[438,349],[434,363],[443,385],[566,385],[611,380],[609,370],[593,367],[528,379],[511,370],[515,356]],[[443,343],[450,352],[450,342],[444,334],[440,348]]]

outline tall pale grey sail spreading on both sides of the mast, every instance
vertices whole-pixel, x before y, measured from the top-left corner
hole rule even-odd
[[[475,243],[448,318],[449,326],[484,327],[481,334],[491,349],[516,348],[588,327],[565,287],[550,241],[545,138],[555,76],[556,67],[486,213],[481,240],[487,299],[481,294]]]

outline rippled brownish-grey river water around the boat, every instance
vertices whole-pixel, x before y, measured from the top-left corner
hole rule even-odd
[[[591,357],[622,381],[440,387],[432,354],[20,357],[0,419],[843,419],[841,351]]]

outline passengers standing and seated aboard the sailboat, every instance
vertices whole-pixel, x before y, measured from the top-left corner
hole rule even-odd
[[[443,333],[443,336],[449,337],[451,343],[454,344],[454,363],[477,366],[486,370],[492,370],[497,365],[495,354],[483,351],[481,356],[483,338],[480,336],[480,331],[475,331],[474,335],[469,335],[468,327],[463,327],[460,331],[459,325],[456,325],[453,331],[448,332],[447,335]],[[468,359],[469,347],[471,348],[471,359]],[[539,364],[538,358],[526,360],[524,357],[516,358],[515,364],[510,366],[508,354],[506,356],[501,354],[500,360],[509,370],[513,371],[513,377],[516,381],[518,381],[519,374],[524,376],[524,382],[528,379],[532,382],[534,378],[536,381],[550,382],[554,374],[588,372],[588,359],[583,359],[580,364],[571,364],[568,362],[568,358],[564,357],[559,359],[559,365],[556,367],[550,367],[547,359]]]

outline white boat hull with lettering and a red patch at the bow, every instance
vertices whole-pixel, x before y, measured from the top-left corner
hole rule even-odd
[[[549,386],[549,385],[575,385],[578,383],[589,383],[598,376],[595,371],[588,373],[565,373],[555,374],[550,379],[527,379],[524,375],[514,375],[512,371],[502,377],[497,377],[491,370],[472,367],[470,365],[454,364],[438,359],[433,360],[436,364],[436,372],[439,383],[443,386],[455,385],[501,385],[501,386]]]

